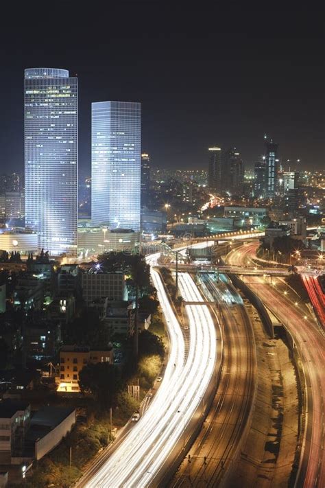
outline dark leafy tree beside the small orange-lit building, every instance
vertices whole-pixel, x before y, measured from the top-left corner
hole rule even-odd
[[[99,406],[107,410],[117,402],[121,372],[110,362],[86,364],[79,373],[79,385],[83,393],[92,393]]]

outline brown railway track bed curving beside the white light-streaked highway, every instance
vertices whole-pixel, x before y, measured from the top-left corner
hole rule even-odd
[[[220,304],[224,363],[213,405],[204,427],[184,459],[171,487],[215,487],[238,454],[252,409],[256,355],[250,319],[240,295],[222,276],[204,274],[208,296]]]

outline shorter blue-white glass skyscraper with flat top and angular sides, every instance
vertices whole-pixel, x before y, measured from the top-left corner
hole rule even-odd
[[[140,231],[141,104],[92,104],[91,218]]]

